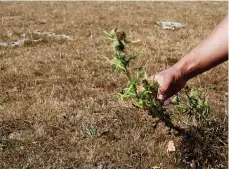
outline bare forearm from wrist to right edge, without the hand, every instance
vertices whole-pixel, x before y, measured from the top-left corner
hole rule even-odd
[[[174,67],[181,71],[186,80],[189,80],[227,59],[228,17],[225,17],[206,40],[196,46],[176,63]]]

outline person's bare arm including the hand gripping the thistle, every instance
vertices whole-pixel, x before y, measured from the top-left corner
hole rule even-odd
[[[160,72],[158,99],[165,100],[179,92],[194,76],[228,59],[228,16],[199,45],[172,67]]]

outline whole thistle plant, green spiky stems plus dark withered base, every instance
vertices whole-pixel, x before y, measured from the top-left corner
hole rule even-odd
[[[213,166],[214,160],[225,161],[226,155],[222,151],[227,145],[224,143],[227,140],[226,125],[211,114],[210,107],[200,92],[190,90],[174,96],[165,103],[159,101],[157,99],[159,84],[148,79],[143,67],[136,71],[130,69],[130,63],[136,59],[136,55],[127,49],[129,45],[138,41],[127,40],[125,32],[119,32],[117,29],[105,34],[106,39],[113,44],[113,59],[109,60],[112,67],[128,79],[127,87],[119,93],[120,98],[130,99],[133,106],[157,117],[156,125],[164,122],[167,127],[182,136],[181,163],[190,164],[190,161],[194,160],[196,166],[201,167],[205,163]]]

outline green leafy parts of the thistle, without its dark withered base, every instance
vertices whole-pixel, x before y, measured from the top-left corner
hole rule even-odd
[[[127,39],[125,32],[117,29],[105,32],[106,39],[112,41],[114,49],[114,57],[109,60],[112,67],[126,75],[128,79],[127,87],[120,93],[120,98],[131,99],[133,105],[137,108],[148,111],[153,117],[159,120],[156,122],[164,122],[165,125],[180,133],[185,130],[181,128],[175,120],[171,119],[174,115],[169,115],[167,105],[172,104],[176,111],[172,114],[179,114],[179,118],[187,120],[194,118],[197,123],[202,123],[210,115],[210,109],[207,101],[202,99],[199,92],[191,90],[185,93],[185,97],[180,99],[178,95],[166,101],[166,104],[157,99],[157,91],[159,84],[155,80],[149,80],[143,67],[136,71],[130,71],[130,63],[137,57],[128,50],[130,44],[139,41],[130,41]],[[175,124],[174,124],[175,123]],[[190,124],[193,125],[193,124]]]

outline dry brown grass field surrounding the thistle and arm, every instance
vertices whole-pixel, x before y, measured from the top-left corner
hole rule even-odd
[[[166,153],[161,126],[115,94],[126,84],[104,56],[104,30],[118,27],[141,43],[137,65],[151,75],[204,39],[227,15],[227,2],[0,2],[0,42],[35,30],[73,35],[0,48],[0,168],[180,168]],[[156,21],[186,23],[162,30]],[[189,82],[225,115],[227,63]],[[94,131],[95,129],[95,131]],[[225,148],[225,152],[227,150]]]

